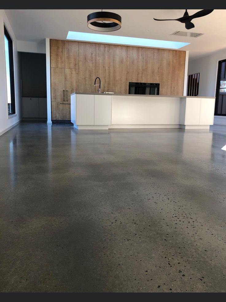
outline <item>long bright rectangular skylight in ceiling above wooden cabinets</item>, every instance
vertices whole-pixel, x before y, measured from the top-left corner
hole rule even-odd
[[[185,42],[112,36],[109,34],[80,33],[76,31],[68,31],[67,39],[78,40],[78,41],[89,41],[89,42],[123,44],[123,45],[149,46],[149,47],[157,47],[157,48],[173,48],[173,49],[178,49],[190,44]]]

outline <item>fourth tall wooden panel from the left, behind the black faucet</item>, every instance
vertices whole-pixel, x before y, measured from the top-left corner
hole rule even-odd
[[[102,92],[112,92],[113,51],[113,45],[96,44],[96,77],[101,80]],[[97,88],[95,88],[95,92],[97,92]]]

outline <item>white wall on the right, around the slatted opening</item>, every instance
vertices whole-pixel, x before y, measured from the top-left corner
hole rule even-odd
[[[199,95],[215,97],[218,61],[226,59],[226,48],[188,63],[188,74],[200,72]]]

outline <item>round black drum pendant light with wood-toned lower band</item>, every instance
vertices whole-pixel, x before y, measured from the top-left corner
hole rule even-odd
[[[97,11],[87,16],[88,28],[96,31],[115,31],[121,28],[122,18],[109,11]]]

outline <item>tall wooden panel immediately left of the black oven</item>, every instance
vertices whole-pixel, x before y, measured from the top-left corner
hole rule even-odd
[[[130,47],[114,45],[113,55],[113,92],[129,92]]]

